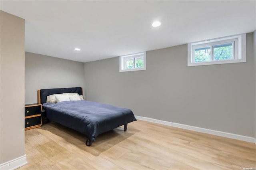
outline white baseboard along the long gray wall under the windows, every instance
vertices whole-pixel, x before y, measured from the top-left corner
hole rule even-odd
[[[213,135],[216,135],[216,136],[222,136],[222,137],[226,137],[226,138],[243,140],[243,141],[246,141],[246,142],[252,142],[252,143],[256,144],[256,138],[252,138],[252,137],[248,137],[248,136],[242,136],[242,135],[239,135],[239,134],[221,132],[221,131],[211,130],[211,129],[207,129],[207,128],[193,127],[193,126],[190,126],[190,125],[184,125],[184,124],[180,124],[180,123],[172,123],[172,122],[167,122],[167,121],[161,121],[161,120],[152,119],[152,118],[148,118],[148,117],[141,117],[141,116],[135,116],[135,117],[136,117],[136,119],[142,120],[142,121],[148,121],[148,122],[152,122],[152,123],[158,123],[158,124],[162,124],[162,125],[168,125],[168,126],[171,126],[171,127],[178,127],[178,128],[183,128],[183,129],[187,129],[187,130],[193,130],[193,131],[196,131],[196,132],[213,134]]]

